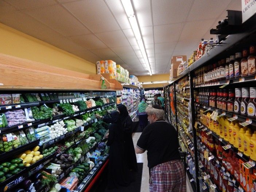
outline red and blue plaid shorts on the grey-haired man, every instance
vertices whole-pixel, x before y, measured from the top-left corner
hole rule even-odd
[[[154,166],[150,173],[150,192],[186,192],[186,175],[181,160]]]

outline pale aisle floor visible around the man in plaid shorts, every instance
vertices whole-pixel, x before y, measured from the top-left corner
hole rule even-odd
[[[132,134],[132,139],[133,139],[133,145],[136,146],[137,141],[140,137],[141,133],[133,133]],[[148,174],[148,160],[147,160],[147,153],[142,153],[142,154],[136,154],[137,157],[137,162],[142,162],[143,163],[143,171],[142,171],[142,180],[141,180],[141,192],[149,192],[149,174]],[[190,184],[189,184],[189,179],[187,177],[187,192],[193,192]]]

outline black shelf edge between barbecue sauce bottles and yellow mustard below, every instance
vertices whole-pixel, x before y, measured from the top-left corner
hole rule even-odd
[[[209,109],[210,111],[216,111],[218,114],[225,114],[224,116],[226,117],[229,117],[229,118],[233,118],[233,119],[236,119],[238,121],[241,121],[241,122],[247,122],[248,125],[251,124],[253,126],[256,126],[256,119],[252,119],[252,118],[248,118],[248,117],[244,117],[244,116],[241,116],[241,115],[237,115],[237,114],[234,114],[230,111],[223,111],[223,110],[220,110],[220,109],[217,109],[217,108],[214,108],[214,107],[208,107],[208,106],[205,106],[205,105],[201,105],[201,104],[198,104],[196,103],[195,106],[199,106],[203,109]]]

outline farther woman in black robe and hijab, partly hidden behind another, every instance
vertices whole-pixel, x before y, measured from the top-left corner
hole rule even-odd
[[[132,140],[132,119],[125,105],[117,106],[120,113],[121,124],[124,128],[124,151],[125,159],[130,170],[137,171],[137,159]]]

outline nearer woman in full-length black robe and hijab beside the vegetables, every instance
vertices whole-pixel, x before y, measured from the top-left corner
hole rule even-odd
[[[131,175],[127,168],[124,157],[124,134],[120,121],[120,114],[117,111],[111,113],[112,123],[109,125],[109,135],[106,145],[109,149],[108,166],[108,188],[118,188],[119,186],[128,186],[131,181]]]

